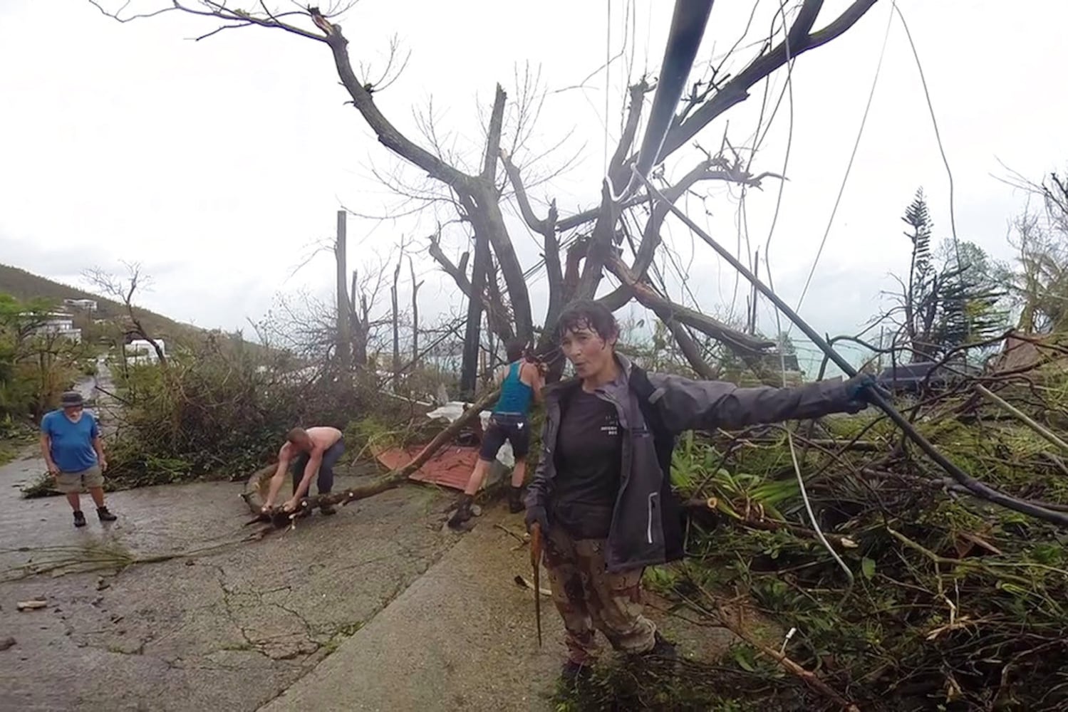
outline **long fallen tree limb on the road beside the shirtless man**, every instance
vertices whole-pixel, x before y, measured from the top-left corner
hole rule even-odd
[[[330,494],[305,496],[300,501],[300,504],[294,511],[285,511],[282,507],[272,507],[269,512],[265,512],[263,511],[264,494],[269,486],[271,475],[274,474],[274,471],[278,468],[278,464],[270,464],[252,473],[245,486],[245,492],[241,494],[241,499],[245,500],[249,509],[253,515],[255,515],[256,519],[253,521],[270,522],[274,526],[288,526],[293,519],[309,515],[313,509],[315,509],[315,507],[320,505],[346,505],[356,500],[365,500],[366,497],[381,494],[387,490],[391,490],[403,485],[413,472],[423,465],[424,462],[434,457],[435,453],[459,434],[460,430],[462,430],[471,421],[478,417],[478,413],[497,402],[500,395],[500,389],[494,389],[484,395],[470,408],[465,410],[464,414],[451,423],[449,427],[444,428],[441,432],[435,436],[434,440],[428,442],[426,446],[420,450],[419,455],[412,458],[411,462],[398,470],[393,470],[392,472],[389,472],[381,477],[367,482],[366,485],[354,487],[341,492],[331,492]]]

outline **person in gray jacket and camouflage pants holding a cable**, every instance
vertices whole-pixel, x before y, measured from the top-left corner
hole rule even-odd
[[[646,374],[615,352],[615,317],[594,301],[568,305],[556,327],[576,378],[548,386],[541,458],[527,494],[538,523],[553,602],[567,630],[563,676],[597,654],[599,630],[616,650],[674,656],[642,615],[646,566],[682,556],[681,509],[671,454],[684,430],[854,413],[873,380],[859,376],[800,387],[738,387]]]

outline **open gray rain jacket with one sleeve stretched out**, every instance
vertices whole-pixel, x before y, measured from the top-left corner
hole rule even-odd
[[[619,492],[606,552],[609,571],[682,557],[682,515],[670,481],[671,450],[677,433],[813,418],[865,407],[851,399],[851,384],[842,379],[786,389],[739,387],[725,381],[646,374],[626,358],[616,354],[616,359],[622,367],[619,377],[596,391],[616,407],[625,438]],[[562,408],[579,387],[579,380],[570,379],[545,391],[541,458],[528,490],[527,506],[545,507],[550,517]]]

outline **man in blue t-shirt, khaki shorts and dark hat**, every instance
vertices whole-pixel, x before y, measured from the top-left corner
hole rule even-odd
[[[104,471],[108,469],[108,459],[104,455],[96,415],[84,409],[77,391],[64,393],[60,405],[59,410],[41,418],[41,453],[48,472],[56,478],[56,488],[66,494],[74,509],[75,526],[85,526],[85,515],[81,512],[82,489],[88,489],[93,497],[100,521],[113,522],[116,517],[104,504]]]

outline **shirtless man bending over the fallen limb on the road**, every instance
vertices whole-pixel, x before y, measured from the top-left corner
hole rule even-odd
[[[270,478],[264,511],[274,505],[274,497],[285,481],[285,471],[293,464],[293,499],[282,505],[285,511],[297,508],[300,497],[308,493],[312,486],[312,477],[318,474],[316,486],[319,494],[329,494],[333,487],[333,466],[345,452],[345,441],[341,430],[329,426],[315,428],[294,428],[285,434],[285,444],[278,452],[278,471]],[[333,505],[319,506],[324,515],[333,515],[337,510]]]

